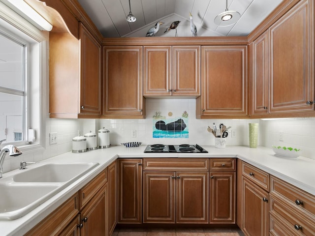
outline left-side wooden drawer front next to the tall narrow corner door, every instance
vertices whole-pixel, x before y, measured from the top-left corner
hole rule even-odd
[[[106,181],[107,169],[99,173],[94,179],[92,179],[80,190],[81,209],[90,201],[90,199],[106,183]]]

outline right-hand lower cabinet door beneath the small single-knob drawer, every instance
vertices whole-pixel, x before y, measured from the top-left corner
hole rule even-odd
[[[268,192],[252,183],[246,177],[242,177],[242,182],[242,230],[246,236],[268,236]]]

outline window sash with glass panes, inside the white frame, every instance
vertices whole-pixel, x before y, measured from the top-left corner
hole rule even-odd
[[[25,140],[26,43],[0,31],[0,140]]]

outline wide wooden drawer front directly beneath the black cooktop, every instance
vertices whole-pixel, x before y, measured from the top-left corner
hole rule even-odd
[[[192,171],[208,171],[208,158],[144,158],[143,170],[192,170]]]

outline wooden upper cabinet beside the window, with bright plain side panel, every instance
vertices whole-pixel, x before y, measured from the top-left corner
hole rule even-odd
[[[101,46],[83,24],[79,40],[69,33],[49,35],[50,118],[98,118]]]

